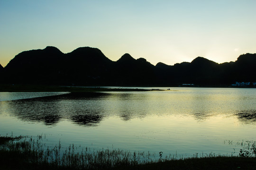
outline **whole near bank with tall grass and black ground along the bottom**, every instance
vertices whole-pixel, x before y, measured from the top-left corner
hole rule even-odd
[[[191,158],[163,157],[144,152],[100,150],[87,148],[75,152],[70,145],[63,150],[61,144],[45,148],[42,136],[0,136],[1,170],[252,170],[256,167],[256,142],[241,143],[239,156],[206,154]]]

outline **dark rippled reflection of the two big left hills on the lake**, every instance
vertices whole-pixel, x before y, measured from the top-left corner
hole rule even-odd
[[[96,126],[103,118],[97,109],[85,103],[106,95],[105,93],[70,93],[59,96],[48,96],[33,99],[2,102],[11,116],[31,122],[43,122],[54,126],[61,119],[70,119],[75,124]],[[89,99],[89,100],[88,100]],[[74,101],[75,100],[75,101]],[[94,111],[93,111],[94,110]]]

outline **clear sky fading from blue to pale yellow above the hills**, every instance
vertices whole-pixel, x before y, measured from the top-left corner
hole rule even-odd
[[[256,0],[0,0],[0,64],[46,46],[154,65],[235,61],[256,53]]]

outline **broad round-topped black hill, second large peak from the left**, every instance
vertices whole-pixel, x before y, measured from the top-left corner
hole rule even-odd
[[[108,84],[111,80],[113,61],[99,49],[80,47],[66,54],[67,69],[64,71],[68,82],[78,85]],[[65,79],[64,77],[62,79]]]

